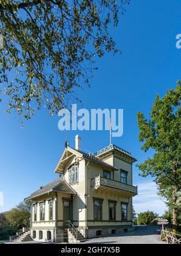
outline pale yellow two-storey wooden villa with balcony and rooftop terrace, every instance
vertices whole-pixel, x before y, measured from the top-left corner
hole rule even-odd
[[[26,199],[32,200],[33,239],[63,241],[62,234],[92,238],[131,231],[135,160],[113,144],[86,154],[80,150],[79,136],[75,149],[66,143],[55,169],[60,177]]]

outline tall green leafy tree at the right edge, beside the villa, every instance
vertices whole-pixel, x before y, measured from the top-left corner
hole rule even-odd
[[[143,113],[138,113],[139,141],[144,142],[142,149],[154,149],[153,157],[148,157],[139,164],[141,176],[154,177],[159,191],[171,192],[173,209],[173,229],[177,229],[178,207],[177,191],[181,188],[181,82],[176,90],[167,90],[160,99],[157,95],[147,120]]]

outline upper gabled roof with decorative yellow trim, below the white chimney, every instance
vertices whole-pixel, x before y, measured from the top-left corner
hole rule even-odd
[[[62,157],[60,157],[60,160],[59,160],[58,165],[56,166],[55,172],[61,172],[62,173],[68,159],[73,157],[73,156],[78,156],[82,159],[86,159],[86,160],[89,160],[91,162],[98,163],[98,164],[103,165],[107,168],[118,170],[117,168],[113,167],[112,165],[109,165],[108,163],[104,162],[103,160],[99,159],[98,157],[94,157],[92,155],[84,153],[83,151],[80,151],[80,150],[77,150],[77,149],[74,149],[74,148],[71,148],[71,147],[68,146],[63,151]]]

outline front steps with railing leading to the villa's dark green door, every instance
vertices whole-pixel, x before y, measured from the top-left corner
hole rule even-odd
[[[81,241],[85,241],[85,237],[70,221],[68,221],[68,227],[68,243],[80,243]]]

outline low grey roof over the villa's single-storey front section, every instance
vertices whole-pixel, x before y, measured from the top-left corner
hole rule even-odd
[[[64,192],[68,194],[76,194],[74,189],[66,182],[65,179],[59,177],[56,180],[48,183],[37,191],[33,192],[29,197],[25,200],[34,199],[35,197],[39,197],[40,195],[47,194],[48,192]]]

